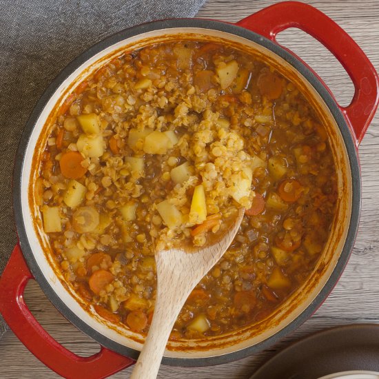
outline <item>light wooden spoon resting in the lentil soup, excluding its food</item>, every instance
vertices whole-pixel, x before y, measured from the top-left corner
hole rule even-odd
[[[226,252],[244,213],[245,208],[238,210],[233,225],[213,245],[191,252],[169,249],[156,253],[157,289],[152,325],[130,379],[156,378],[167,340],[185,300]]]

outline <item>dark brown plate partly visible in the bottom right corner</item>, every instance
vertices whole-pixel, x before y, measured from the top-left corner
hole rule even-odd
[[[251,379],[316,379],[349,370],[379,371],[379,325],[346,325],[290,345]]]

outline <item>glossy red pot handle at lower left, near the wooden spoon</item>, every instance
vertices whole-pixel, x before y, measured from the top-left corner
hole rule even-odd
[[[0,313],[10,329],[34,356],[64,378],[106,378],[134,360],[105,347],[90,357],[80,357],[65,349],[52,338],[30,313],[23,292],[34,279],[23,258],[19,245],[14,247],[6,269],[0,278]]]

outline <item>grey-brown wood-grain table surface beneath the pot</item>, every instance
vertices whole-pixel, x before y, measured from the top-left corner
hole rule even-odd
[[[198,17],[238,21],[277,1],[208,0]],[[365,51],[379,70],[379,0],[308,0],[334,19]],[[347,105],[353,85],[342,66],[311,37],[298,30],[280,34],[278,41],[303,57],[322,76],[342,105]],[[162,366],[158,378],[244,379],[276,351],[303,336],[337,325],[379,323],[379,114],[373,119],[360,147],[362,214],[358,238],[344,274],[325,303],[296,332],[260,354],[216,367]],[[26,301],[37,320],[65,347],[81,356],[99,351],[99,345],[73,327],[45,298],[36,283],[28,285]],[[0,340],[0,378],[59,378],[8,331]],[[127,378],[132,368],[112,378]]]

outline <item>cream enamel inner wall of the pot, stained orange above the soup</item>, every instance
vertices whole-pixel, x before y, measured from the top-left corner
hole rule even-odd
[[[196,34],[198,36],[196,37]],[[103,334],[110,340],[119,342],[121,345],[125,345],[132,349],[141,350],[141,336],[134,334],[133,332],[122,329],[120,327],[110,327],[107,322],[101,320],[94,311],[88,312],[81,307],[81,300],[74,294],[74,291],[67,289],[63,286],[59,278],[59,270],[54,268],[54,261],[48,258],[48,254],[45,254],[48,247],[48,239],[46,238],[43,230],[41,229],[41,223],[33,223],[34,217],[38,220],[40,218],[37,207],[30,204],[28,201],[28,193],[32,190],[34,179],[37,177],[37,172],[32,171],[32,161],[39,154],[39,149],[36,149],[37,142],[41,146],[46,141],[48,131],[46,127],[46,121],[57,104],[65,99],[68,92],[65,92],[70,88],[72,83],[74,85],[71,89],[80,83],[85,76],[88,76],[91,72],[94,72],[100,65],[103,65],[106,61],[109,61],[120,54],[120,49],[127,48],[140,48],[143,45],[150,43],[156,43],[159,41],[170,41],[172,39],[178,39],[181,37],[197,39],[225,39],[228,43],[244,45],[248,50],[254,50],[258,54],[263,54],[267,59],[271,60],[274,65],[278,65],[283,69],[280,70],[286,76],[294,75],[298,78],[304,88],[307,88],[308,94],[312,102],[318,104],[318,110],[320,116],[324,119],[328,125],[330,143],[334,152],[336,170],[338,172],[338,186],[340,198],[338,199],[338,207],[336,218],[333,223],[331,235],[327,242],[327,246],[322,254],[322,257],[318,261],[318,265],[314,269],[314,273],[311,274],[307,283],[303,285],[296,293],[294,293],[272,316],[267,320],[258,322],[256,325],[251,325],[243,330],[234,332],[230,335],[218,336],[214,338],[207,338],[205,340],[196,340],[190,342],[170,342],[165,356],[173,358],[204,358],[211,356],[220,356],[230,353],[232,351],[238,351],[245,347],[255,345],[276,334],[276,332],[283,329],[291,321],[293,321],[298,315],[300,315],[316,298],[322,287],[324,287],[327,279],[331,275],[336,266],[342,247],[345,243],[347,235],[347,229],[349,226],[349,219],[351,214],[351,172],[349,170],[349,158],[345,143],[342,140],[342,136],[338,130],[338,126],[331,116],[327,105],[322,101],[320,95],[314,90],[314,88],[300,76],[298,72],[287,63],[284,59],[278,57],[276,54],[263,48],[262,46],[238,37],[234,34],[226,32],[220,32],[217,30],[207,30],[201,28],[172,28],[165,30],[155,30],[140,34],[130,39],[125,39],[119,43],[116,43],[99,54],[83,63],[75,72],[61,85],[58,90],[52,95],[48,103],[45,105],[39,119],[32,131],[28,147],[25,151],[25,158],[23,161],[23,172],[21,177],[21,207],[23,220],[25,223],[25,230],[28,236],[32,253],[39,268],[48,279],[50,286],[55,293],[63,300],[63,303],[67,305],[77,316],[79,316],[89,327],[95,329],[99,333]],[[39,137],[43,136],[42,139]],[[40,149],[41,150],[41,149]],[[321,273],[321,274],[320,274]]]

